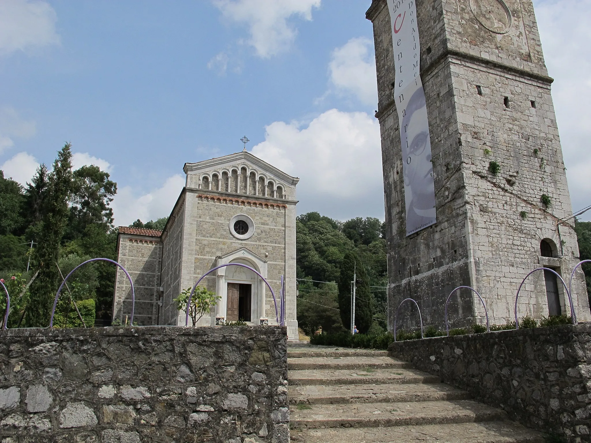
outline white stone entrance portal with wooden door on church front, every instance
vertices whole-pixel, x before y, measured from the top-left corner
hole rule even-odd
[[[260,258],[246,248],[238,249],[217,258],[216,266],[241,263],[251,266],[267,278],[267,260]],[[216,317],[225,321],[246,321],[259,324],[265,318],[266,285],[255,272],[242,266],[226,266],[217,270],[216,294],[220,301],[216,306]]]

